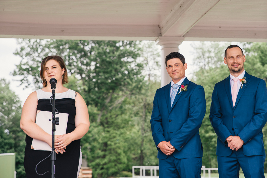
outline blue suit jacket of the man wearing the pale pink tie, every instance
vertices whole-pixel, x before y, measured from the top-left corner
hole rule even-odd
[[[218,136],[217,155],[229,156],[232,150],[225,142],[230,135],[244,141],[244,155],[264,155],[262,128],[267,120],[267,90],[264,80],[247,72],[247,84],[239,89],[233,107],[230,76],[215,84],[210,107],[210,122]]]

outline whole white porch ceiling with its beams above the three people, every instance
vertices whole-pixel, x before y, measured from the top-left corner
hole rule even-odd
[[[1,38],[267,42],[266,0],[0,0]]]

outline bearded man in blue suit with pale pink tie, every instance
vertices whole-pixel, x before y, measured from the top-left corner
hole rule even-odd
[[[215,84],[210,121],[217,139],[220,178],[264,177],[265,151],[262,128],[267,120],[264,80],[244,70],[246,58],[237,45],[225,50],[224,63],[230,76]]]

